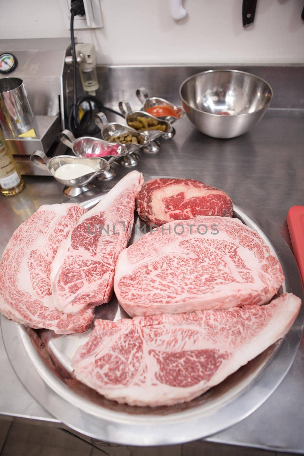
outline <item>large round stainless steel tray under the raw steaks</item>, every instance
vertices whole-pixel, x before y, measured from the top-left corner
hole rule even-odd
[[[146,179],[159,176],[147,176]],[[113,186],[106,184],[107,186]],[[107,188],[107,187],[104,187]],[[105,194],[89,190],[73,198],[86,208]],[[279,294],[293,292],[303,299],[302,282],[289,247],[273,226],[247,202],[230,195],[235,216],[254,228],[277,252],[286,277]],[[142,226],[135,218],[134,225]],[[134,230],[135,232],[135,230]],[[137,230],[139,233],[139,230]],[[133,243],[139,234],[132,235]],[[96,318],[126,317],[116,298],[96,309]],[[131,407],[117,404],[72,378],[71,359],[90,331],[57,336],[35,331],[1,316],[5,349],[15,373],[32,396],[64,424],[91,437],[123,445],[173,445],[206,437],[234,425],[257,409],[288,372],[301,339],[302,308],[283,340],[200,397],[170,407]]]

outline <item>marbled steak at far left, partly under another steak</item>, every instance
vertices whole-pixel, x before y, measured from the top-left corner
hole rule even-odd
[[[86,212],[77,204],[41,206],[10,238],[0,262],[0,311],[11,320],[57,334],[87,330],[93,311],[82,316],[55,310],[50,268],[59,244]]]

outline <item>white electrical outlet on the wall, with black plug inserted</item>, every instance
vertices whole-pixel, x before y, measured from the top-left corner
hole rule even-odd
[[[70,28],[71,21],[71,0],[60,0],[62,12],[66,27]],[[74,17],[74,29],[101,28],[103,27],[103,18],[99,0],[83,0],[85,16]]]

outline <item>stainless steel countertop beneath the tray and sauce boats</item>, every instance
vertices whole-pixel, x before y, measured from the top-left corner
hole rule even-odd
[[[304,204],[304,110],[269,109],[249,133],[216,140],[195,130],[187,119],[175,124],[173,140],[162,141],[157,155],[141,154],[145,175],[195,178],[242,197],[256,207],[290,245],[286,215]],[[128,172],[117,167],[118,177]],[[63,186],[51,177],[26,176],[26,189],[0,198],[1,244],[42,203],[66,201]],[[26,392],[15,376],[0,340],[0,414],[58,423]],[[304,452],[304,342],[273,395],[252,415],[207,440],[243,446]]]

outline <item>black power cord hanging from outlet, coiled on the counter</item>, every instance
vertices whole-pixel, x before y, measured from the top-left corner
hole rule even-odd
[[[93,95],[84,95],[83,97],[77,98],[77,56],[76,56],[76,47],[75,47],[75,37],[74,37],[74,17],[75,16],[84,16],[85,10],[82,0],[72,0],[71,1],[71,42],[72,42],[72,57],[73,57],[73,105],[68,116],[68,125],[69,130],[72,131],[73,135],[78,138],[79,136],[93,136],[98,135],[99,128],[98,126],[93,126],[90,128],[90,125],[93,122],[93,110],[97,106],[98,111],[112,112],[121,117],[124,117],[121,113],[114,111],[114,109],[107,108],[103,103]],[[88,115],[84,115],[82,121],[79,120],[79,106],[87,102],[89,105]]]

